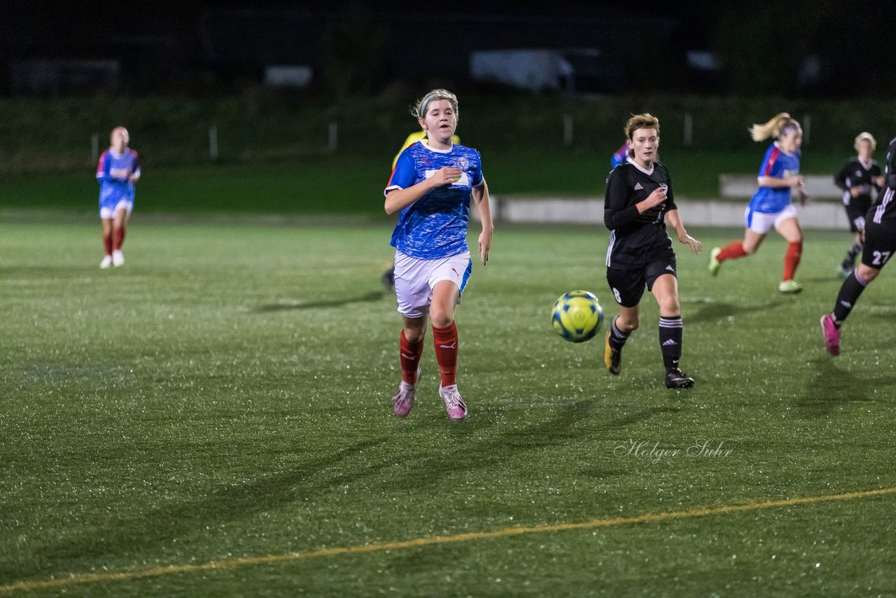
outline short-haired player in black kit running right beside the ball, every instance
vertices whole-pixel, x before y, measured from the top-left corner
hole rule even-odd
[[[633,116],[625,123],[625,137],[629,158],[610,172],[604,200],[604,223],[610,230],[607,282],[619,304],[619,315],[607,333],[604,363],[611,374],[619,375],[622,348],[638,327],[638,304],[646,285],[659,303],[659,349],[666,367],[666,387],[690,388],[694,378],[678,368],[681,306],[675,252],[666,224],[695,254],[700,253],[702,244],[685,231],[668,169],[656,161],[659,120],[646,113]]]

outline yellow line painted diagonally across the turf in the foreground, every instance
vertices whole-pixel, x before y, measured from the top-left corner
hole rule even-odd
[[[379,552],[383,550],[399,550],[403,548],[417,548],[420,546],[432,546],[435,544],[450,544],[455,542],[469,542],[471,540],[490,540],[504,538],[526,533],[564,532],[567,530],[582,530],[596,527],[612,527],[625,524],[646,524],[668,521],[671,519],[683,519],[686,517],[702,517],[711,515],[727,515],[729,513],[741,513],[744,511],[756,511],[773,507],[792,507],[794,505],[806,505],[832,500],[849,500],[852,498],[867,498],[892,494],[896,488],[883,488],[879,490],[864,490],[861,492],[847,492],[845,494],[831,494],[828,496],[788,498],[784,500],[768,500],[765,502],[749,503],[746,505],[728,505],[726,507],[694,508],[686,511],[673,511],[671,513],[647,513],[633,517],[609,517],[605,519],[592,519],[576,524],[548,524],[534,525],[531,527],[507,527],[493,532],[457,533],[450,536],[431,536],[428,538],[415,538],[401,542],[374,542],[358,546],[345,546],[342,548],[322,548],[308,550],[306,552],[287,552],[284,554],[269,554],[259,557],[234,557],[221,560],[211,560],[199,565],[168,565],[167,567],[154,567],[145,569],[133,569],[103,573],[69,573],[61,577],[50,579],[22,580],[11,585],[0,585],[0,593],[7,594],[15,591],[32,591],[61,585],[90,584],[93,582],[112,582],[125,579],[140,579],[142,577],[163,576],[174,573],[192,573],[194,571],[207,571],[210,569],[231,569],[246,565],[267,565],[281,561],[314,559],[317,557],[332,557],[342,554],[359,554],[363,552]]]

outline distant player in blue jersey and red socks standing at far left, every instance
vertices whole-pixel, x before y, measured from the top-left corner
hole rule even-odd
[[[125,242],[125,226],[134,210],[134,183],[140,178],[137,152],[128,148],[130,135],[124,126],[116,126],[110,135],[111,147],[99,156],[99,219],[103,224],[103,246],[106,256],[100,268],[125,264],[121,247]]]

